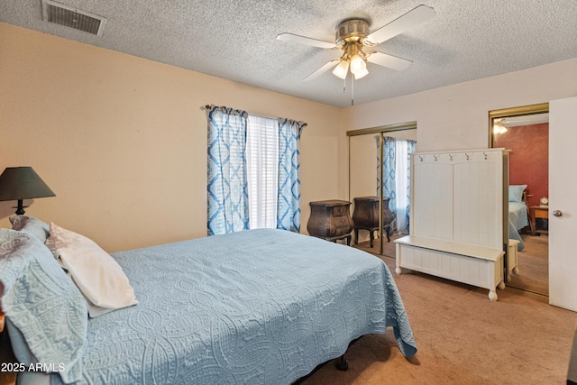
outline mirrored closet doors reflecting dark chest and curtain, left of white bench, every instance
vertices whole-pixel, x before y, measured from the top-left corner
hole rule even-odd
[[[415,151],[417,123],[349,131],[347,135],[352,245],[394,257],[392,241],[408,234],[408,153]]]

